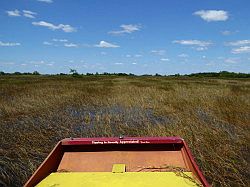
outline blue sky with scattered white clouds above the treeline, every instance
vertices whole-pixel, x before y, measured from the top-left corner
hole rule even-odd
[[[250,73],[249,0],[2,0],[0,71]]]

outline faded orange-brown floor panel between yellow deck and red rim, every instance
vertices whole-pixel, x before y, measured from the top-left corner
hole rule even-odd
[[[68,152],[63,155],[58,171],[111,172],[117,163],[125,164],[128,172],[165,165],[190,171],[181,151]]]

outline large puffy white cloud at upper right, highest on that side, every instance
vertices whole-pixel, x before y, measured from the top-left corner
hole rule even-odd
[[[199,10],[194,15],[200,16],[203,20],[210,21],[226,21],[229,18],[228,12],[224,10]]]

